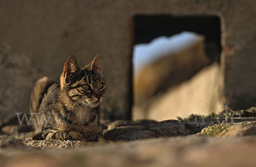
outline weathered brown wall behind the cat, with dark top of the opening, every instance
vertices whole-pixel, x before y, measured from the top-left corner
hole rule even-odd
[[[255,0],[1,0],[0,120],[28,112],[35,81],[44,75],[58,80],[69,55],[75,55],[81,66],[98,51],[108,89],[105,115],[130,119],[132,48],[157,35],[157,28],[147,29],[150,35],[145,37],[141,33],[145,25],[163,24],[166,19],[173,29],[161,31],[165,35],[187,30],[206,36],[207,55],[220,62],[223,105],[253,106],[255,6]],[[193,29],[195,22],[203,29]]]

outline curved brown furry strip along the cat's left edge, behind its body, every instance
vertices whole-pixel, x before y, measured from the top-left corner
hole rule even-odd
[[[55,82],[48,77],[41,78],[35,83],[29,103],[29,110],[32,114],[32,121],[34,122],[35,128],[36,125],[34,119],[36,119],[36,113],[38,112],[40,104],[44,98],[44,94],[47,93],[48,88],[52,86],[53,83]]]

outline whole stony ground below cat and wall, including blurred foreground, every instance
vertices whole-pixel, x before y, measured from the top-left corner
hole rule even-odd
[[[213,119],[204,121],[211,120]],[[30,167],[38,164],[42,167],[52,165],[55,167],[71,165],[214,167],[223,162],[226,167],[254,165],[256,121],[219,125],[230,126],[224,128],[222,132],[226,132],[221,137],[240,136],[239,138],[190,135],[204,126],[207,125],[199,120],[191,120],[191,122],[115,121],[108,124],[104,132],[104,138],[109,140],[98,142],[35,141],[31,140],[32,132],[2,134],[0,135],[0,165],[4,167]],[[235,127],[237,129],[231,130]],[[113,142],[119,140],[130,142]]]

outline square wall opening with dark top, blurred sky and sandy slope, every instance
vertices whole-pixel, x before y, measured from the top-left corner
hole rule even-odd
[[[221,110],[219,17],[139,15],[134,24],[134,119]]]

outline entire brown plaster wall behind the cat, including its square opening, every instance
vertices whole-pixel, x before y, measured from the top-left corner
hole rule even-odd
[[[253,0],[1,0],[0,124],[29,113],[35,82],[97,52],[102,118],[176,119],[256,103]],[[241,7],[242,6],[242,7]]]

